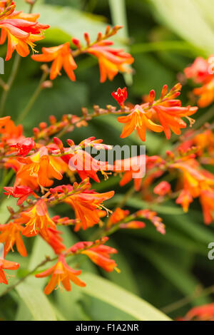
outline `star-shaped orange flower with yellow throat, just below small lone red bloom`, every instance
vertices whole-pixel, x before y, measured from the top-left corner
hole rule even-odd
[[[153,123],[151,118],[151,112],[146,112],[141,108],[140,105],[136,105],[131,113],[126,116],[119,116],[118,121],[120,123],[126,123],[121,133],[121,138],[127,138],[133,130],[137,130],[139,137],[143,142],[146,140],[146,129],[155,131],[156,133],[161,133],[163,127]]]

